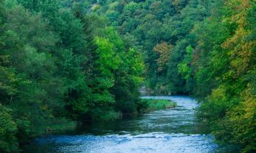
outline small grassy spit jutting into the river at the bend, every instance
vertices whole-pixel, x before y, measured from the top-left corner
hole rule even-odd
[[[141,99],[138,104],[140,114],[152,112],[159,109],[169,109],[177,106],[177,103],[165,99]]]

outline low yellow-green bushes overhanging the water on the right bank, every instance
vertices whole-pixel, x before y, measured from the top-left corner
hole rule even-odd
[[[256,97],[251,89],[241,97],[228,95],[223,86],[213,90],[197,109],[197,116],[210,123],[221,152],[255,152]]]

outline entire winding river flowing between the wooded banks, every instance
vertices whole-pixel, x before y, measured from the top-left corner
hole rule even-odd
[[[205,153],[216,144],[207,128],[195,120],[197,101],[190,97],[143,97],[170,99],[174,109],[159,110],[137,118],[84,126],[74,133],[41,137],[24,147],[25,153]]]

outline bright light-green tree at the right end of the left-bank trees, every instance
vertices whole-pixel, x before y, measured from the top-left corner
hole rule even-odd
[[[103,30],[102,37],[109,39],[96,37],[98,46],[96,64],[100,68],[100,73],[96,73],[96,75],[99,75],[102,80],[101,83],[98,83],[97,88],[100,88],[101,91],[102,88],[106,88],[106,91],[110,89],[110,92],[105,92],[105,98],[109,97],[109,101],[112,99],[112,103],[115,102],[113,106],[117,111],[125,114],[136,112],[134,103],[139,101],[139,83],[143,80],[141,75],[144,69],[141,54],[132,48],[126,50],[122,38],[112,27]],[[109,86],[100,87],[100,84],[109,84]],[[102,95],[104,94],[96,95],[94,99],[102,97]],[[115,99],[113,99],[114,97]],[[94,101],[99,102],[99,100]]]

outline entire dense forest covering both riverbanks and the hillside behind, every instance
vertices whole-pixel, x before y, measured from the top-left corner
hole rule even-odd
[[[255,152],[255,25],[255,0],[0,0],[0,152],[137,114],[141,86],[197,97],[223,152]]]

